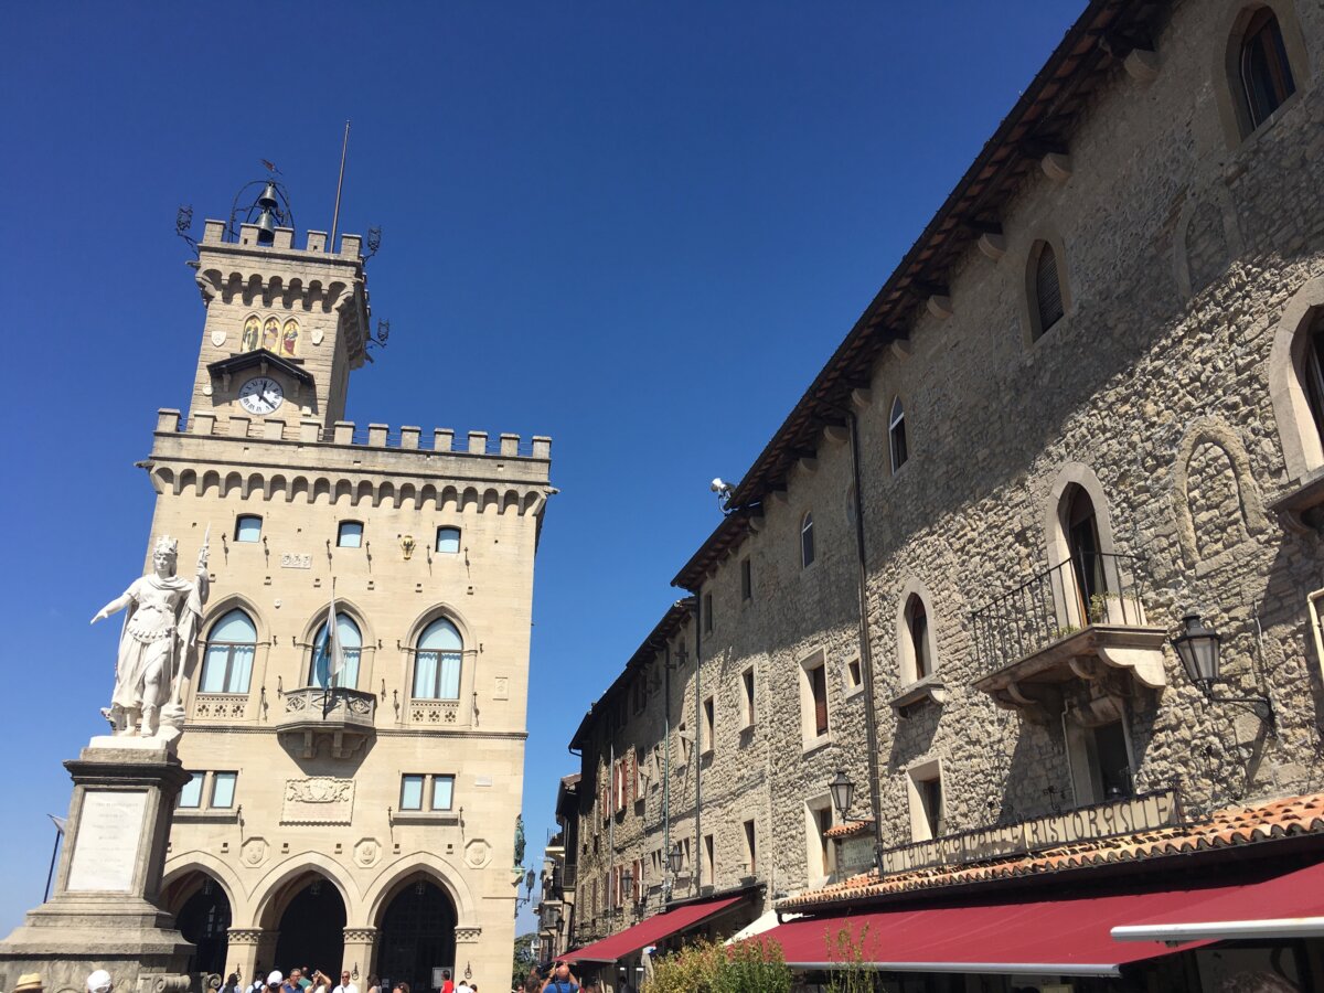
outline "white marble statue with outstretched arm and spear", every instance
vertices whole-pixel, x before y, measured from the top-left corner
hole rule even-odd
[[[127,608],[119,634],[115,692],[110,707],[102,711],[117,735],[139,733],[171,741],[179,736],[184,715],[183,675],[192,667],[207,602],[207,538],[197,553],[193,583],[175,575],[177,553],[179,544],[163,535],[152,549],[152,572],[134,580],[123,596],[91,618],[95,624]]]

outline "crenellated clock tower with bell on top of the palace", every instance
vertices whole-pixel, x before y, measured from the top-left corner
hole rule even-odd
[[[294,229],[274,226],[275,184],[258,199],[258,224],[207,221],[199,244],[197,286],[207,303],[191,409],[226,433],[245,424],[344,418],[350,372],[368,343],[368,293],[360,238],[346,234],[327,250],[324,232],[294,246]]]

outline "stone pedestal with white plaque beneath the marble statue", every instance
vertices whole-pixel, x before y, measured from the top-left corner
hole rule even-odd
[[[187,989],[193,947],[156,900],[188,773],[166,743],[135,737],[95,737],[65,768],[74,793],[54,892],[0,941],[0,989],[38,972],[50,993],[81,992],[94,969],[117,993]]]

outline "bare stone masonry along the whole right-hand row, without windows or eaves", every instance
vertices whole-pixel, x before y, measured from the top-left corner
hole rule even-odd
[[[1295,13],[1309,65],[1324,65],[1324,9],[1279,7]],[[1324,555],[1317,536],[1286,532],[1267,510],[1287,483],[1267,385],[1272,327],[1324,273],[1324,99],[1317,69],[1298,71],[1298,95],[1230,150],[1214,87],[1227,85],[1218,66],[1234,13],[1222,0],[1176,4],[1157,32],[1158,77],[1113,73],[1071,134],[1074,175],[1035,173],[1004,211],[1005,256],[972,249],[951,274],[955,314],[924,315],[908,350],[875,368],[859,434],[887,843],[911,841],[907,769],[933,760],[948,831],[1074,802],[1062,727],[1000,710],[973,687],[984,673],[970,625],[972,610],[1047,568],[1050,491],[1070,463],[1098,478],[1112,551],[1143,557],[1149,622],[1174,629],[1180,608],[1198,605],[1223,634],[1223,692],[1267,692],[1278,710],[1275,741],[1254,716],[1205,703],[1165,649],[1168,687],[1128,703],[1136,788],[1178,782],[1205,806],[1324,786],[1307,621]],[[1068,308],[1031,343],[1025,274],[1039,240],[1061,252]],[[911,457],[894,474],[895,396]],[[816,884],[806,804],[826,801],[838,768],[858,784],[855,813],[867,809],[863,695],[843,679],[858,655],[850,479],[849,446],[825,436],[816,465],[765,500],[759,532],[703,585],[715,624],[703,638],[702,694],[716,694],[703,833],[715,834],[718,890],[740,882],[749,817],[769,891]],[[804,569],[806,511],[817,560]],[[898,614],[916,583],[947,699],[902,720],[890,707],[906,688]],[[831,731],[805,748],[801,662],[818,651]],[[757,673],[759,719],[741,731],[747,666]],[[685,683],[692,730],[690,670],[673,690]],[[622,733],[647,740],[657,726],[650,710]],[[687,833],[692,846],[692,769],[673,784],[673,839]],[[633,833],[617,830],[622,857],[657,846],[657,824],[650,798]]]

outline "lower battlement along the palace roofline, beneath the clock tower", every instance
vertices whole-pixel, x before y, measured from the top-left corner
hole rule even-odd
[[[449,428],[433,429],[429,438],[424,436],[421,428],[409,425],[392,430],[385,424],[369,424],[367,428],[359,428],[354,421],[336,421],[334,426],[324,428],[322,421],[315,417],[303,417],[298,421],[285,421],[277,417],[252,418],[236,414],[218,417],[212,410],[200,410],[193,414],[191,422],[185,424],[179,410],[168,408],[156,412],[156,433],[293,441],[303,445],[354,445],[418,451],[425,455],[496,455],[530,459],[549,459],[552,457],[552,440],[542,434],[523,440],[518,434],[493,437],[487,432],[469,432],[459,437],[457,445],[455,432]]]

